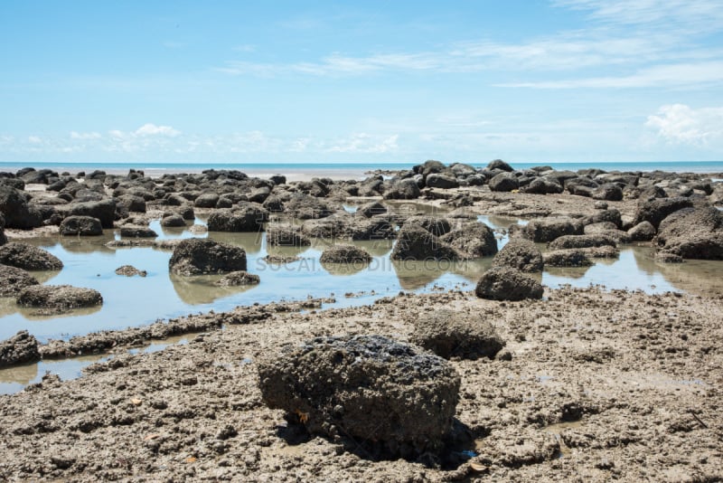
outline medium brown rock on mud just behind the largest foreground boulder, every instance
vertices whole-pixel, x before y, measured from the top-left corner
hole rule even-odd
[[[493,359],[504,347],[502,337],[481,313],[441,308],[414,321],[409,342],[449,359]]]

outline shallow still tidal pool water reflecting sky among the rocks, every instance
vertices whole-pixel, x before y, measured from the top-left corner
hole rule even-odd
[[[396,209],[404,209],[399,204]],[[348,206],[351,211],[354,207]],[[479,216],[478,219],[498,231],[500,248],[507,242],[506,229],[514,219]],[[196,223],[204,223],[199,218]],[[522,222],[521,222],[522,223]],[[100,308],[71,311],[61,316],[40,316],[33,309],[18,308],[13,298],[0,298],[0,340],[27,329],[41,342],[50,338],[69,338],[106,329],[144,326],[157,319],[180,317],[190,313],[225,311],[239,305],[267,303],[279,299],[297,300],[307,297],[334,297],[335,304],[324,307],[349,307],[372,303],[399,291],[429,292],[446,289],[474,289],[477,279],[487,270],[492,257],[459,262],[392,261],[392,242],[356,242],[371,252],[369,265],[339,267],[324,265],[319,257],[330,241],[315,241],[311,247],[268,247],[265,233],[211,232],[193,235],[188,229],[164,229],[151,223],[159,239],[210,236],[213,240],[242,246],[247,252],[249,271],[259,275],[257,286],[221,288],[213,282],[221,276],[178,277],[168,272],[171,251],[153,248],[109,249],[108,241],[117,238],[108,231],[102,237],[61,238],[52,236],[33,239],[35,245],[59,257],[65,267],[56,272],[35,272],[42,283],[98,289],[104,303]],[[550,288],[563,285],[588,287],[603,285],[607,289],[641,289],[646,292],[690,291],[701,289],[723,291],[723,261],[688,260],[682,264],[660,264],[653,259],[651,247],[622,247],[615,260],[596,260],[592,267],[552,269],[542,274],[542,283]],[[544,245],[540,249],[545,250]],[[268,254],[298,255],[300,260],[285,265],[269,264]],[[124,277],[115,270],[122,265],[146,270],[147,276]],[[96,357],[93,360],[98,360]],[[80,373],[81,360],[72,359],[68,366],[62,361],[41,363],[27,369],[34,371],[25,383],[15,375],[0,370],[0,393],[15,392],[18,387],[39,379],[45,370],[61,372],[63,378]],[[90,364],[89,362],[87,364]],[[29,366],[28,366],[29,367]],[[12,373],[14,374],[14,373]],[[10,384],[10,385],[8,385]],[[19,385],[18,385],[19,384]]]

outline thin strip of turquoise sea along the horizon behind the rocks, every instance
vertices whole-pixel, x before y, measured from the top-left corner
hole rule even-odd
[[[489,161],[471,163],[475,167],[487,166]],[[375,169],[410,169],[419,163],[375,162],[375,163],[15,163],[0,162],[0,171],[14,172],[26,166],[36,169],[50,168],[56,171],[90,172],[96,169],[106,171],[127,171],[141,169],[168,173],[192,173],[204,169],[237,169],[239,171],[263,173],[318,173],[353,171],[364,173]],[[723,161],[651,161],[651,162],[579,162],[579,163],[514,163],[515,169],[526,169],[533,166],[552,166],[555,169],[600,168],[606,171],[673,171],[688,173],[723,173]]]

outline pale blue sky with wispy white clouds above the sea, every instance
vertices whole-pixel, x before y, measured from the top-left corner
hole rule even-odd
[[[0,161],[723,159],[723,2],[0,4]]]

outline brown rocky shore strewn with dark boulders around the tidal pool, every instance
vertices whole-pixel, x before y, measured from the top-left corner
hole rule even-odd
[[[116,230],[114,247],[173,251],[174,276],[258,283],[240,247],[154,240],[151,221],[189,226],[195,213],[210,232],[266,231],[279,246],[335,241],[330,265],[368,263],[353,242],[369,240],[394,240],[392,260],[492,259],[472,291],[345,309],[279,301],[47,344],[21,332],[0,342],[0,366],[114,355],[77,380],[49,374],[0,396],[0,478],[719,480],[723,293],[549,289],[539,278],[632,243],[653,245],[661,264],[723,260],[715,177],[500,160],[427,161],[361,182],[0,173],[3,297],[48,312],[103,298],[38,284],[34,270],[63,264],[23,239],[47,232]],[[391,209],[399,201],[445,214]],[[528,223],[512,225],[499,250],[477,215]],[[201,334],[153,354],[123,350],[184,333]]]

